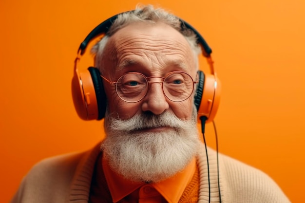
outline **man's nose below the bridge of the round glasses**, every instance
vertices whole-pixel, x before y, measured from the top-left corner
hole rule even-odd
[[[169,103],[162,90],[162,83],[150,83],[148,92],[143,99],[142,111],[151,111],[158,115],[169,109]]]

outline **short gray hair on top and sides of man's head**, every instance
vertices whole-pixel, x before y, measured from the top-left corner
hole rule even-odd
[[[102,72],[102,64],[101,58],[103,55],[104,48],[108,42],[109,37],[114,35],[116,31],[119,29],[126,27],[127,25],[134,22],[146,22],[146,23],[157,23],[163,22],[167,25],[170,25],[172,28],[179,31],[189,42],[191,46],[191,50],[194,55],[196,69],[198,70],[198,57],[201,53],[201,48],[197,44],[197,36],[196,34],[187,29],[179,18],[168,13],[162,8],[154,8],[152,5],[147,6],[137,6],[136,9],[132,12],[126,12],[119,14],[118,17],[114,20],[108,32],[105,36],[95,44],[95,46],[91,49],[91,53],[95,55],[95,67]]]

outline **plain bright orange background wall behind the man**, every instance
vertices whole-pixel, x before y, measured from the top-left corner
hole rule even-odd
[[[73,61],[97,24],[136,3],[0,1],[0,202],[39,160],[91,148],[103,137],[102,122],[82,121],[74,110]],[[223,85],[215,119],[220,151],[265,171],[292,202],[304,201],[305,1],[141,3],[171,10],[211,46]],[[207,142],[214,140],[209,125]]]

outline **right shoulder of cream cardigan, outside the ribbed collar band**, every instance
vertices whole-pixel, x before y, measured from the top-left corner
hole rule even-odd
[[[224,203],[290,203],[264,172],[225,155],[220,160]]]

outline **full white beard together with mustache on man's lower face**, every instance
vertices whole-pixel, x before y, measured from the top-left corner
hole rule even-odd
[[[101,149],[112,169],[125,178],[159,182],[183,170],[198,151],[200,140],[194,119],[182,121],[169,112],[143,113],[128,120],[106,116],[107,136]],[[137,131],[161,126],[172,129]]]

